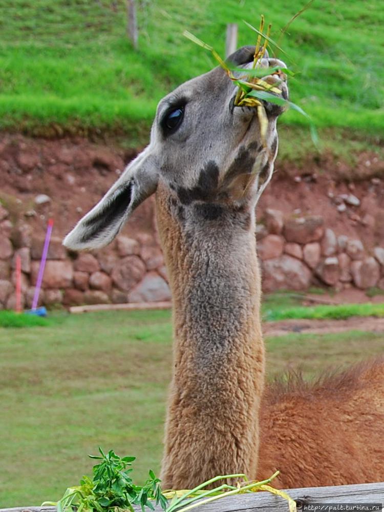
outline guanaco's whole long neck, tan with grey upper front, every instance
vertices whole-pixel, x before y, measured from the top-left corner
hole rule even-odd
[[[160,187],[157,221],[174,323],[162,485],[255,478],[264,345],[254,215],[186,212]]]

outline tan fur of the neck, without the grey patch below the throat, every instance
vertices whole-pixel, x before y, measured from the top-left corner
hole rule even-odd
[[[167,193],[158,190],[157,221],[173,292],[175,338],[161,478],[166,488],[185,488],[217,474],[255,474],[264,346],[257,301],[260,279],[253,243],[250,254],[244,253],[243,257],[247,272],[253,277],[250,295],[256,300],[249,301],[242,331],[231,340],[228,353],[222,355],[219,349],[217,361],[200,361],[199,343],[206,341],[208,350],[210,340],[196,340],[191,334],[193,323],[199,322],[187,300],[195,286],[193,255],[187,251],[183,233],[169,213],[168,202]],[[252,258],[251,267],[248,257]]]

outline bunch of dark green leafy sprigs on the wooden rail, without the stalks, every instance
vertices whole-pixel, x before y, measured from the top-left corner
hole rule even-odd
[[[167,500],[161,493],[160,480],[150,469],[149,478],[144,485],[136,485],[132,478],[131,462],[136,457],[119,457],[113,450],[104,454],[99,447],[100,456],[90,455],[91,459],[101,462],[93,466],[93,479],[84,476],[80,485],[69,487],[64,496],[57,502],[57,512],[72,512],[73,507],[78,512],[105,512],[109,510],[129,509],[132,505],[140,505],[144,512],[145,507],[154,510],[155,504],[165,510]],[[47,505],[45,502],[42,506]]]

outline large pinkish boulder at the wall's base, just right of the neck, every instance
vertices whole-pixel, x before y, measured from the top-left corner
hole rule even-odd
[[[308,267],[287,254],[263,261],[262,275],[265,292],[281,289],[306,290],[311,282],[311,271]]]

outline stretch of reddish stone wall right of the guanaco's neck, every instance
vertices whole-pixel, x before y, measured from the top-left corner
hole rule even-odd
[[[384,289],[384,249],[336,236],[322,216],[284,219],[279,210],[267,209],[257,239],[264,291],[306,290],[311,284]]]

